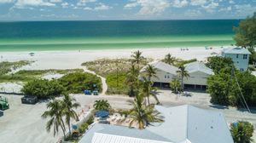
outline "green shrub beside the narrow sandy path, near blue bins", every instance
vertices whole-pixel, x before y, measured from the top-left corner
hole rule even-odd
[[[85,89],[102,91],[101,78],[91,73],[73,72],[61,77],[58,81],[68,93],[72,94],[82,93]]]

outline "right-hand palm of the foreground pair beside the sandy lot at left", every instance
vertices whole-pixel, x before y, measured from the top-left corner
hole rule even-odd
[[[64,106],[63,115],[66,118],[69,135],[71,136],[70,120],[72,118],[76,119],[76,120],[79,119],[79,117],[78,117],[77,113],[74,111],[74,109],[78,108],[80,106],[80,104],[77,102],[73,103],[73,99],[68,94],[64,94],[64,98],[63,98],[63,100],[61,100],[61,102],[62,102],[62,105]]]

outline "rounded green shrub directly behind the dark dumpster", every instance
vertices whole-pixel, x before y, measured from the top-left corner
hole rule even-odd
[[[38,98],[46,99],[61,95],[65,89],[56,80],[33,80],[26,83],[21,92],[26,95],[35,95]]]

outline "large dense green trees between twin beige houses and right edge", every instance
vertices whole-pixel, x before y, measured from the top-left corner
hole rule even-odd
[[[207,92],[213,104],[246,108],[245,100],[248,106],[255,106],[256,77],[251,72],[239,72],[226,67],[208,77]]]

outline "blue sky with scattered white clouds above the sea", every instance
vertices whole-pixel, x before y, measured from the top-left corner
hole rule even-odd
[[[0,20],[243,19],[256,0],[0,0]]]

